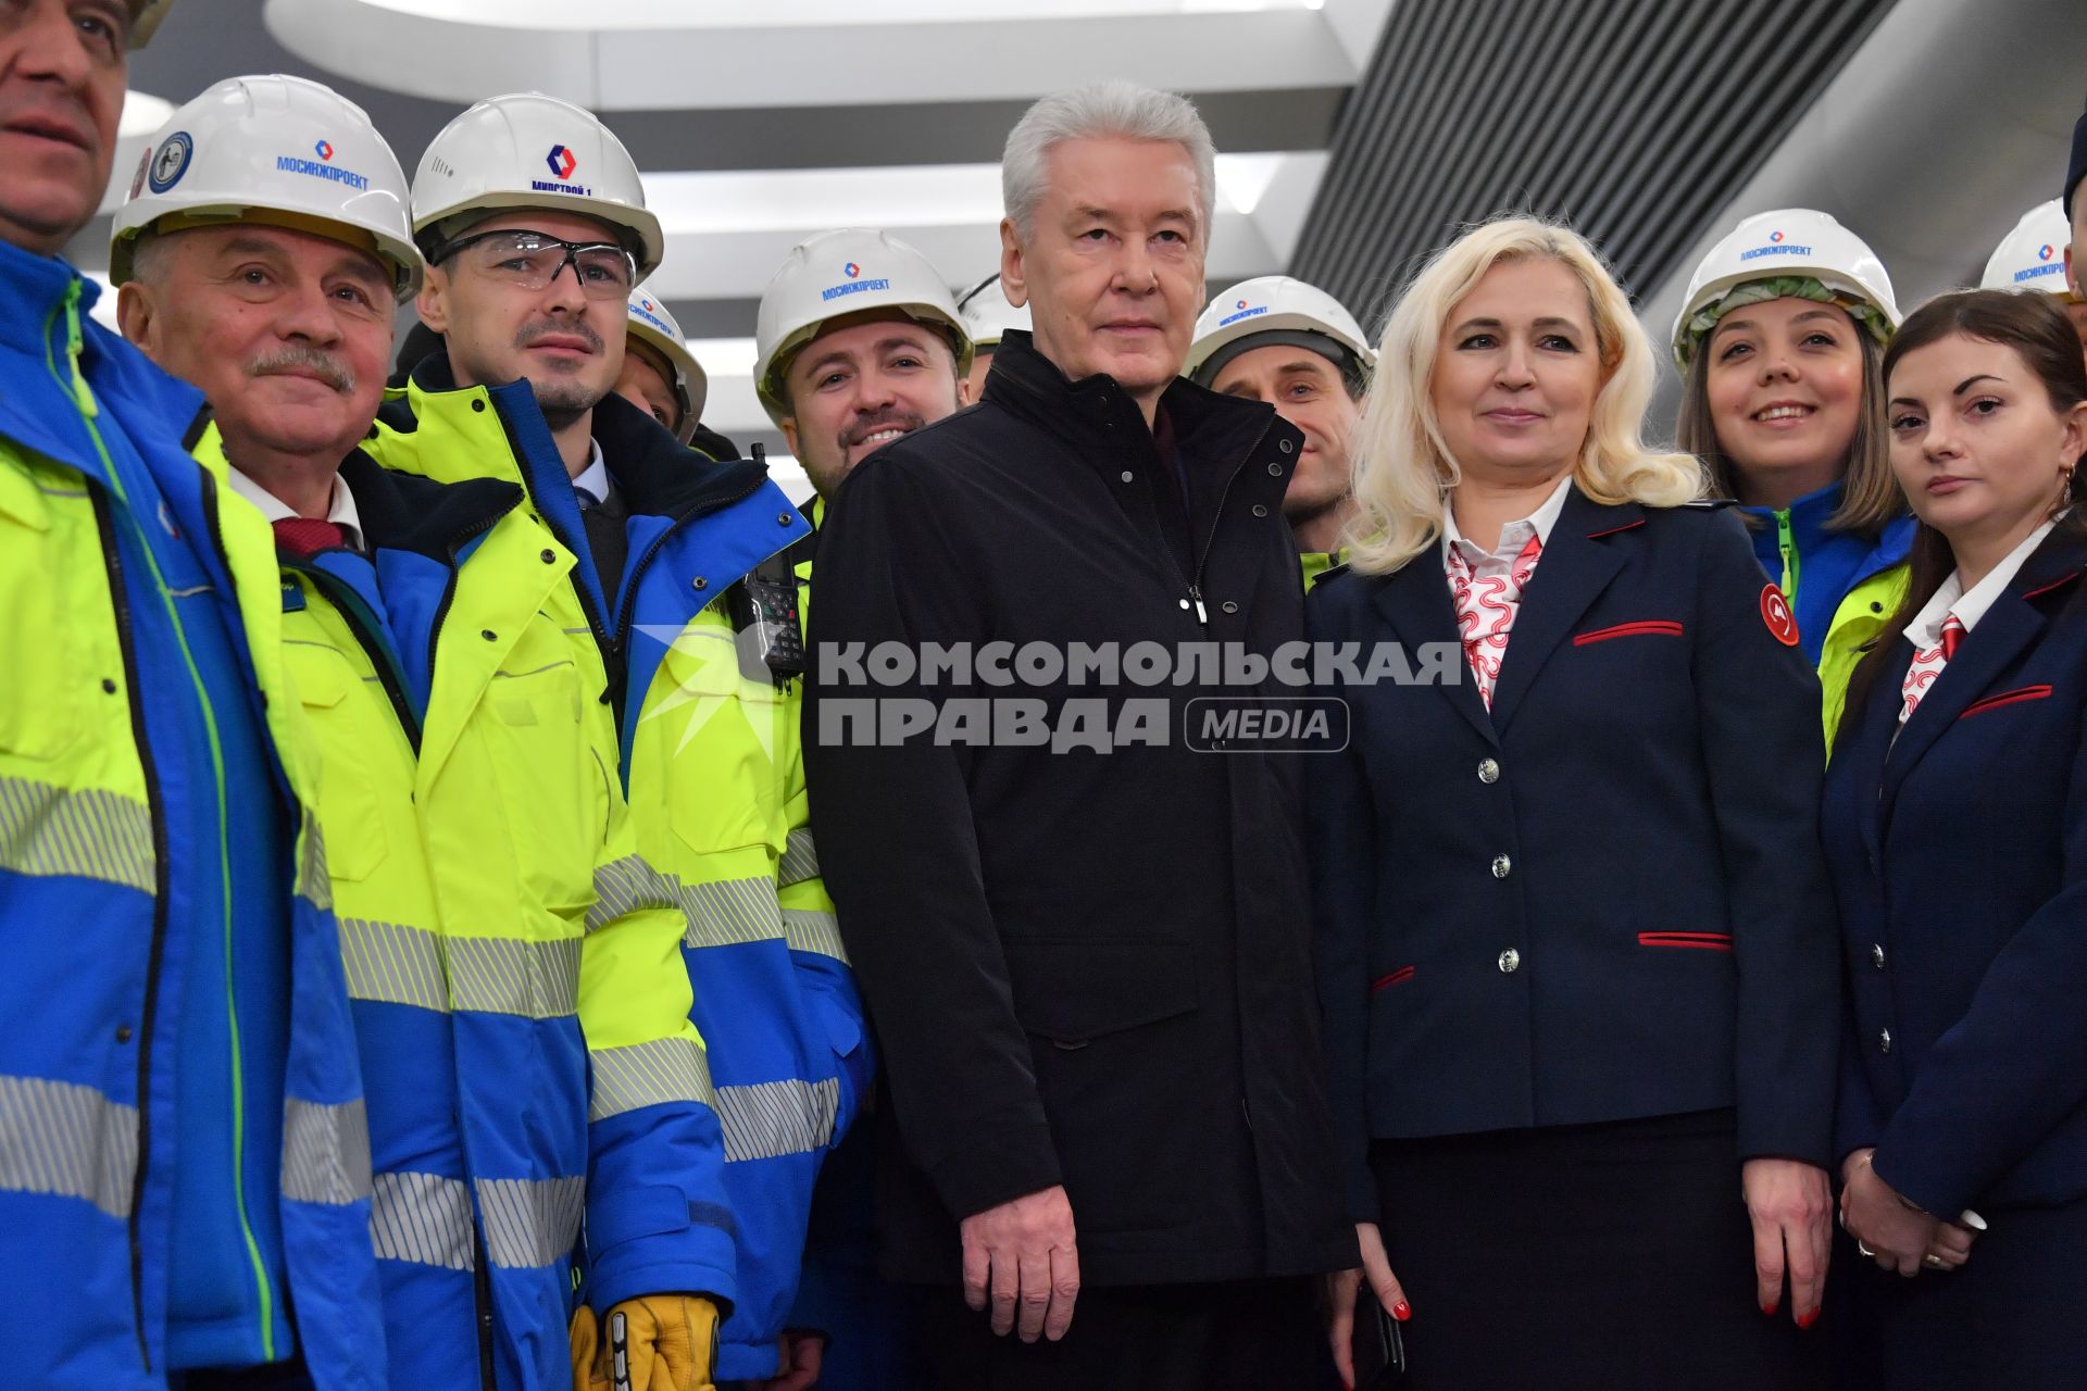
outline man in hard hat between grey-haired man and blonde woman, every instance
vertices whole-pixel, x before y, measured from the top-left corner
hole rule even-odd
[[[1346,565],[1342,534],[1354,519],[1348,442],[1377,363],[1340,300],[1288,275],[1242,279],[1196,319],[1183,371],[1223,396],[1267,400],[1304,432],[1298,469],[1284,488],[1284,517],[1298,542],[1309,590]]]

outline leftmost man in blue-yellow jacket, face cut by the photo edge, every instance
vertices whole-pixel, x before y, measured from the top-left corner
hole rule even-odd
[[[125,44],[0,4],[0,1385],[376,1391],[369,1149],[261,519],[90,321]],[[177,184],[186,144],[138,186]],[[294,150],[286,150],[294,154]]]

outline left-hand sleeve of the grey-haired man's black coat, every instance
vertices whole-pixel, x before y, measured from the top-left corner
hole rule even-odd
[[[883,642],[989,640],[958,507],[897,448],[849,475],[820,534],[803,749],[841,938],[883,1045],[899,1137],[956,1218],[1060,1180],[973,832],[970,751],[881,747],[877,707],[950,684],[841,684],[829,659]],[[860,646],[858,646],[860,644]],[[864,674],[868,665],[862,667]],[[914,709],[922,709],[916,705]],[[868,726],[862,722],[868,711]]]

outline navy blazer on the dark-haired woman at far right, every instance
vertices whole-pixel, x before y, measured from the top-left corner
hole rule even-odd
[[[2052,532],[1899,728],[1826,778],[1849,970],[1839,1151],[1928,1212],[2087,1195],[2087,538]],[[1893,738],[1897,734],[1897,738]]]

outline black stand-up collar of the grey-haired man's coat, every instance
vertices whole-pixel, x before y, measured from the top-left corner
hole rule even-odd
[[[1121,459],[1133,442],[1150,446],[1152,430],[1137,402],[1104,373],[1069,380],[1058,365],[1037,352],[1023,330],[1008,330],[993,352],[981,400],[1021,415],[1050,436],[1064,440],[1098,469]],[[1296,425],[1275,415],[1275,407],[1240,396],[1221,396],[1188,377],[1175,377],[1160,396],[1173,421],[1175,446],[1183,463],[1231,463],[1265,438],[1290,438],[1292,450],[1304,440]]]

